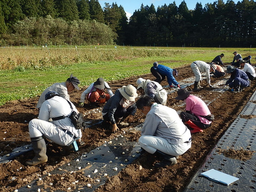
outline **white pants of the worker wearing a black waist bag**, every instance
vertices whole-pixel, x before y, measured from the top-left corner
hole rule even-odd
[[[71,136],[53,123],[40,119],[32,119],[29,122],[30,138],[35,138],[42,135],[61,146],[69,146],[75,141],[75,139],[71,138]]]

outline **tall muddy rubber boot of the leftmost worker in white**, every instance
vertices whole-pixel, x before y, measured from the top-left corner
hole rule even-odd
[[[35,140],[33,140],[35,139]],[[43,137],[31,138],[32,147],[35,152],[35,157],[32,160],[26,161],[26,165],[35,166],[39,163],[47,162],[48,157],[46,155],[46,144]]]

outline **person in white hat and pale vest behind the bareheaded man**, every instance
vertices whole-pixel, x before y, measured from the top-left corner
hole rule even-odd
[[[149,79],[146,80],[143,78],[139,78],[137,79],[136,84],[137,90],[142,95],[148,95],[152,97],[155,100],[155,102],[160,103],[162,105],[166,105],[167,92],[159,83],[151,81]]]

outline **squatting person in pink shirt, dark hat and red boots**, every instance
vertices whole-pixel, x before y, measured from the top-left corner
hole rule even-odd
[[[178,96],[174,99],[186,103],[186,112],[180,113],[182,122],[190,129],[191,133],[203,132],[203,129],[211,126],[211,121],[205,116],[211,115],[207,105],[199,97],[190,95],[192,91],[186,88],[178,90]]]

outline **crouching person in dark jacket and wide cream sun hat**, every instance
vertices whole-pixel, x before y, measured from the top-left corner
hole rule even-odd
[[[137,89],[134,86],[122,86],[115,91],[115,95],[110,97],[102,109],[103,119],[105,122],[111,123],[109,128],[113,133],[119,130],[118,124],[125,125],[123,124],[125,119],[128,123],[133,122],[133,116],[137,110],[134,101],[137,96]]]

